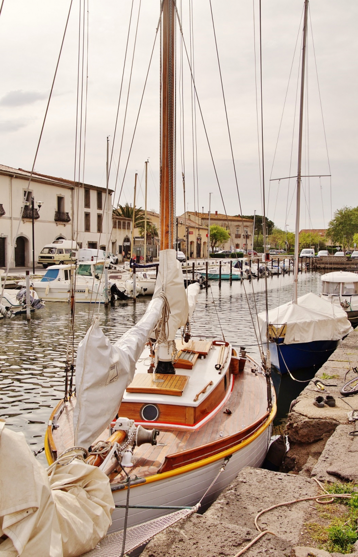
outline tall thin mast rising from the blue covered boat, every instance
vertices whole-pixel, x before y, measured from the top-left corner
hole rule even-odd
[[[304,97],[304,94],[305,94],[307,13],[308,13],[308,0],[305,0],[305,15],[303,17],[302,67],[301,67],[300,129],[298,131],[297,197],[296,197],[296,229],[295,229],[295,267],[293,269],[293,303],[294,304],[297,304],[298,248],[300,246],[299,234],[300,234],[302,128],[303,128],[303,97]]]

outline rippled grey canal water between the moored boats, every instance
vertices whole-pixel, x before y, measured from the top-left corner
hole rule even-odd
[[[318,272],[298,277],[298,295],[321,291]],[[269,308],[292,298],[293,276],[268,278]],[[114,343],[143,316],[150,298],[140,297],[116,302],[115,307],[100,306],[99,315],[104,333]],[[235,348],[246,346],[249,354],[259,358],[252,319],[265,307],[264,280],[211,282],[206,292],[200,291],[192,322],[192,334],[221,337]],[[75,346],[80,342],[98,312],[98,305],[77,304]],[[14,431],[22,431],[33,451],[43,447],[46,424],[52,408],[63,397],[68,336],[68,304],[46,302],[41,311],[26,316],[0,320],[0,417]],[[301,377],[302,378],[302,377]],[[305,384],[284,377],[281,382],[276,430],[283,427],[290,402]],[[44,453],[38,455],[46,466]]]

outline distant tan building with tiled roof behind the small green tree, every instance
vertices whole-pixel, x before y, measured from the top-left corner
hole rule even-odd
[[[202,227],[209,226],[209,213],[186,212],[190,221],[200,224]],[[179,217],[184,220],[184,214]],[[220,246],[223,250],[251,250],[253,247],[253,220],[241,216],[226,216],[217,211],[210,213],[210,226],[218,224],[229,233],[229,240]]]

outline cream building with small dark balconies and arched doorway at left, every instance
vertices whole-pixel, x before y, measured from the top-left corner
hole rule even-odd
[[[112,190],[0,165],[0,267],[32,265],[32,199],[35,265],[42,248],[73,238],[79,247],[110,245]],[[24,209],[21,216],[21,209]]]

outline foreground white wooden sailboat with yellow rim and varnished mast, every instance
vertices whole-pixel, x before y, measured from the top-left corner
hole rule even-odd
[[[266,368],[218,336],[190,336],[198,284],[185,290],[174,236],[174,0],[163,0],[160,253],[153,299],[112,345],[99,318],[81,341],[76,394],[50,416],[48,463],[73,446],[110,480],[109,529],[210,504],[244,466],[261,466],[276,398]],[[179,17],[179,16],[178,16]],[[178,336],[179,331],[181,335]],[[148,429],[149,428],[149,429]],[[218,477],[219,476],[219,477]],[[129,499],[128,499],[129,497]],[[204,499],[203,499],[204,497]]]

